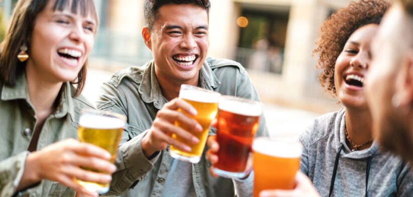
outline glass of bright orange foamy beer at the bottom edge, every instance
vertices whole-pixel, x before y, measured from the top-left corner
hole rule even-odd
[[[254,190],[258,196],[265,189],[293,189],[299,169],[302,146],[299,142],[254,139]]]

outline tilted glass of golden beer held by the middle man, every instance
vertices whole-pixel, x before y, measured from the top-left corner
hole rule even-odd
[[[192,151],[186,152],[171,145],[169,154],[173,158],[191,163],[199,162],[203,148],[205,147],[205,142],[207,142],[211,121],[215,119],[217,115],[218,101],[220,99],[220,96],[221,94],[218,92],[187,84],[181,85],[181,89],[179,91],[179,99],[192,105],[198,113],[196,116],[191,116],[188,113],[183,112],[181,109],[178,109],[178,111],[182,112],[192,119],[195,119],[202,126],[202,132],[194,131],[193,128],[187,128],[176,121],[176,126],[179,126],[185,131],[190,132],[192,135],[199,139],[199,143],[195,145],[188,144],[185,143],[185,139],[172,134],[173,139],[185,143],[192,149]]]

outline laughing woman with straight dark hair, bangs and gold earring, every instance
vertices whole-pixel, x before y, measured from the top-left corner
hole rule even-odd
[[[0,196],[97,195],[110,153],[77,140],[97,16],[92,0],[20,0],[0,54]],[[76,86],[74,86],[74,84]],[[69,187],[69,188],[68,188]]]

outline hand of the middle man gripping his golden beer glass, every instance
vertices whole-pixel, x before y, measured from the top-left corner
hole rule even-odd
[[[166,103],[163,108],[158,111],[151,128],[142,139],[142,150],[147,158],[155,152],[165,149],[168,144],[173,145],[177,149],[189,152],[191,151],[191,148],[188,144],[199,143],[199,139],[194,135],[175,126],[175,121],[178,121],[184,128],[196,132],[202,131],[202,127],[199,123],[182,112],[178,112],[178,109],[181,109],[190,116],[195,116],[197,114],[196,110],[190,104],[183,100],[179,100],[178,98]],[[184,139],[187,144],[173,139],[172,134]]]

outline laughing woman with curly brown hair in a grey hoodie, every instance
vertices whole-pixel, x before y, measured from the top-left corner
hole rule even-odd
[[[293,190],[266,190],[260,196],[406,196],[413,193],[408,165],[379,149],[364,98],[364,75],[370,66],[370,42],[389,4],[352,2],[320,28],[315,54],[323,87],[344,109],[318,117],[301,136],[300,171]],[[209,140],[212,156],[215,142]],[[215,157],[215,158],[214,158]],[[277,170],[277,169],[274,169]],[[308,176],[308,177],[306,177]],[[312,186],[314,185],[314,187]]]

